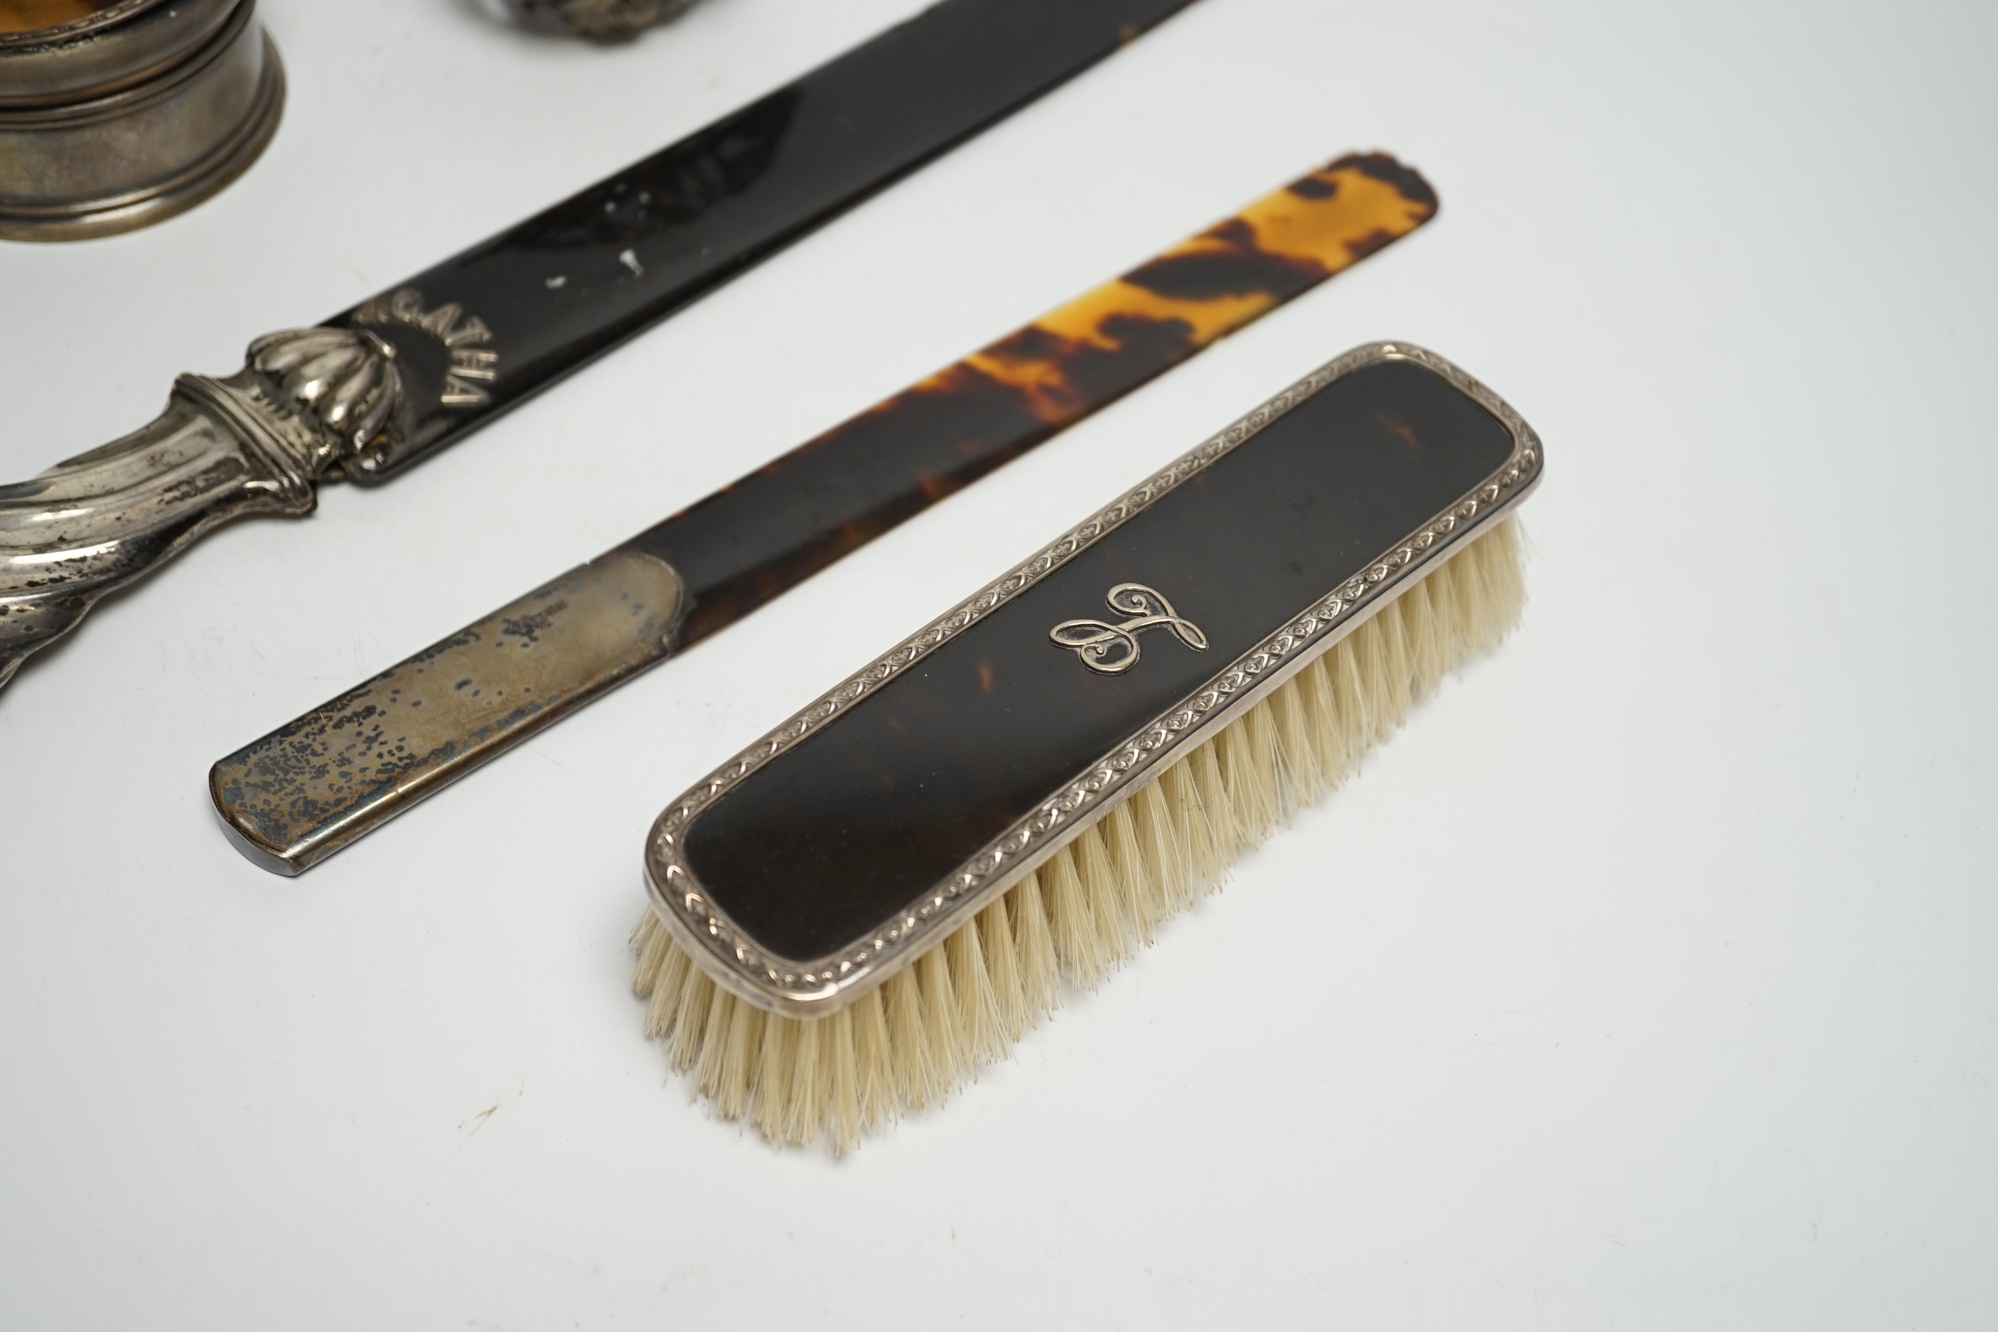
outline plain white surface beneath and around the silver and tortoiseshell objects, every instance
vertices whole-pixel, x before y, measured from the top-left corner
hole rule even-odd
[[[0,248],[0,473],[817,64],[266,0],[268,156]],[[8,1328],[1978,1328],[1998,1314],[1998,12],[1205,0],[388,489],[0,695]],[[208,765],[1349,148],[1443,194],[1299,300],[300,881]],[[689,1106],[657,809],[1337,351],[1548,443],[1532,605],[1345,791],[857,1156]]]

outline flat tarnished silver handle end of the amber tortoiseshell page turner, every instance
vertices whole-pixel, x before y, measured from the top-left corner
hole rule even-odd
[[[216,763],[222,825],[298,875],[667,657],[685,599],[639,551],[569,569]]]

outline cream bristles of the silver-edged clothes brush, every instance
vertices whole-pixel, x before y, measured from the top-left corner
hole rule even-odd
[[[823,1018],[755,1008],[707,979],[659,919],[631,931],[645,1034],[723,1118],[845,1152],[941,1102],[1221,885],[1235,859],[1319,799],[1524,605],[1512,519],[1431,571],[1337,647],[1099,819],[911,967]]]

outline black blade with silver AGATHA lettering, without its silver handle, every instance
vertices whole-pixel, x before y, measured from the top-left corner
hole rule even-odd
[[[374,483],[657,324],[1193,0],[941,0],[332,324],[396,343]]]

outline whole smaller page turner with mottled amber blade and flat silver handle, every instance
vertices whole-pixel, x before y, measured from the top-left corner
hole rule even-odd
[[[1387,154],[1311,172],[222,759],[224,827],[308,869],[1435,214]]]

